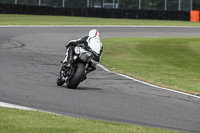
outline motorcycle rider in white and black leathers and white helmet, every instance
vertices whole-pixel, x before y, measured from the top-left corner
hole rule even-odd
[[[84,49],[77,47],[77,45],[79,44],[84,44]],[[65,59],[63,61],[63,64],[70,65],[70,63],[73,61],[72,57],[74,54],[78,55],[80,51],[86,50],[86,51],[90,51],[94,55],[91,61],[92,64],[91,64],[90,72],[96,70],[96,64],[99,63],[101,53],[103,51],[103,46],[100,41],[98,30],[92,29],[89,31],[88,36],[85,36],[78,40],[69,41],[69,43],[66,45],[66,48],[67,48],[67,52],[65,54]]]

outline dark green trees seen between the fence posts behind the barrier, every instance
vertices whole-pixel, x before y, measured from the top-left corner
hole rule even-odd
[[[0,3],[14,4],[16,0],[0,0]],[[63,0],[40,0],[42,6],[62,7]],[[90,0],[90,7],[93,7],[93,1]],[[178,10],[179,0],[167,0],[167,10]],[[104,0],[105,3],[112,3],[113,0]],[[115,0],[117,3],[118,0]],[[17,0],[18,4],[38,5],[39,0]],[[87,0],[65,0],[65,7],[87,8]],[[119,0],[121,9],[139,9],[139,0]],[[147,10],[164,10],[165,0],[141,0],[141,9]],[[181,10],[190,10],[190,0],[181,0]],[[200,0],[193,0],[193,10],[200,10]]]

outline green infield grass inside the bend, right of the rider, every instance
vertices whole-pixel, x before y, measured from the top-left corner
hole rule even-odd
[[[200,38],[110,38],[101,62],[158,86],[200,95]]]

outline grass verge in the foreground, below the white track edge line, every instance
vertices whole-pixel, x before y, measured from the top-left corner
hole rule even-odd
[[[84,120],[0,107],[1,133],[175,133],[130,124]]]

